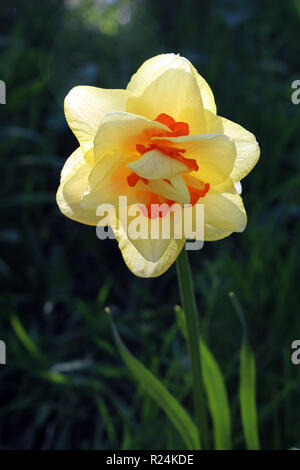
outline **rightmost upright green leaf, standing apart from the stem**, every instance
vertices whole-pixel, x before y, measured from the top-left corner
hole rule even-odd
[[[259,449],[255,398],[255,359],[248,339],[244,336],[241,349],[240,407],[248,450]]]

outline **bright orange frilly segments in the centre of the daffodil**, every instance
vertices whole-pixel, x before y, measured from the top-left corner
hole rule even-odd
[[[155,121],[158,121],[165,126],[167,126],[170,131],[165,131],[163,135],[160,137],[181,137],[185,135],[189,135],[189,125],[186,122],[176,122],[171,116],[165,113],[161,113],[157,116]],[[163,142],[160,143],[153,143],[147,146],[143,144],[136,145],[137,151],[144,155],[146,152],[150,150],[158,150],[161,153],[167,155],[168,157],[174,158],[181,163],[184,163],[190,171],[198,171],[199,166],[196,160],[192,158],[186,158],[182,154],[185,153],[185,149],[177,148],[177,147],[170,147],[169,145],[165,145]],[[141,180],[146,185],[149,183],[146,178],[142,178],[141,176],[137,175],[136,173],[132,172],[130,175],[127,176],[128,185],[133,187],[137,184],[137,182]],[[171,184],[169,180],[165,180]],[[204,197],[206,193],[209,191],[210,184],[204,183],[204,187],[202,189],[193,188],[190,185],[187,185],[189,194],[190,194],[190,204],[194,206],[200,197]],[[148,216],[149,218],[157,218],[157,217],[164,217],[169,210],[171,209],[172,205],[176,203],[176,201],[171,201],[169,199],[163,198],[163,202],[166,206],[166,209],[159,208],[159,204],[161,204],[161,200],[157,194],[151,193],[150,202],[146,205],[141,207],[141,211],[144,215]]]

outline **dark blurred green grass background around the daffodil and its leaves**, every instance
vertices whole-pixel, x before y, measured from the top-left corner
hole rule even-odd
[[[172,267],[135,278],[114,241],[63,217],[55,203],[76,148],[63,98],[77,84],[126,86],[147,58],[179,52],[214,90],[218,112],[251,130],[261,160],[243,184],[248,227],[191,258],[204,338],[239,415],[243,306],[257,370],[262,448],[300,446],[300,4],[272,0],[1,0],[0,366],[2,449],[176,449],[183,442],[129,379],[104,312],[130,350],[191,409]]]

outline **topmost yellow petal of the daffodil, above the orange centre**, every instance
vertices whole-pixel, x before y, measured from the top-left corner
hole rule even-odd
[[[206,120],[199,78],[192,64],[175,54],[150,59],[128,85],[126,111],[155,119],[166,113],[187,122],[192,134],[205,132]]]

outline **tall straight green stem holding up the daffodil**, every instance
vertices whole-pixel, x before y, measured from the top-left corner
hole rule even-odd
[[[193,397],[195,423],[199,432],[199,446],[208,448],[207,418],[204,403],[204,387],[202,381],[200,359],[200,329],[196,306],[195,292],[189,260],[185,247],[183,247],[176,261],[177,277],[182,306],[185,312],[187,325],[187,342],[190,356],[190,365],[193,377]]]

